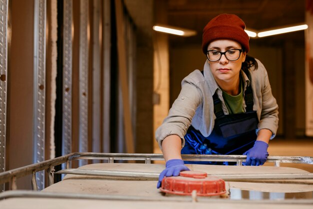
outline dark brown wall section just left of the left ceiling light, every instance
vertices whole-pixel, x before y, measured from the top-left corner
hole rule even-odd
[[[124,4],[133,20],[136,36],[135,153],[153,152],[153,0],[126,0]]]

